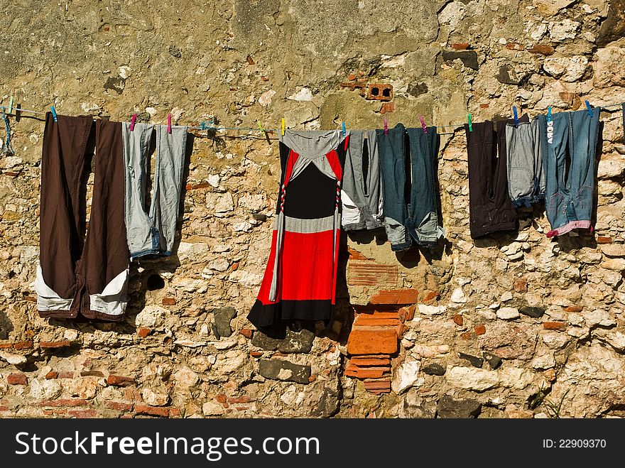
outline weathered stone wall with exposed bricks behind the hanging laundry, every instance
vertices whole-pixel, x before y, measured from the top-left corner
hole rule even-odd
[[[13,92],[24,109],[116,121],[335,129],[625,101],[622,0],[93,3],[0,6],[1,104]],[[392,101],[354,83],[392,85]],[[195,132],[176,254],[134,264],[124,322],[62,322],[38,317],[32,285],[43,121],[12,120],[0,415],[621,415],[625,150],[620,111],[602,121],[592,236],[546,239],[537,207],[518,234],[472,241],[464,131],[447,127],[445,245],[393,254],[383,232],[345,236],[335,320],[268,337],[246,312],[270,245],[275,139]]]

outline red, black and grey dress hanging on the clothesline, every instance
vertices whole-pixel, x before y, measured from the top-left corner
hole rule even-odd
[[[256,327],[332,317],[348,138],[340,131],[292,130],[280,138],[281,190],[271,252],[247,316]]]

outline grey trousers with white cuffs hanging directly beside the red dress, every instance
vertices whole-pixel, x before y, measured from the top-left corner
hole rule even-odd
[[[382,227],[382,180],[375,130],[352,130],[341,191],[341,223],[346,231]]]

